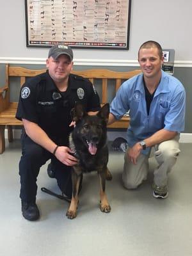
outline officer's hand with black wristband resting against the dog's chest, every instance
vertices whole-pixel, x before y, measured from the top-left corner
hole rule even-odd
[[[61,163],[68,166],[73,166],[78,163],[78,159],[71,154],[73,154],[73,152],[70,150],[70,148],[61,146],[56,150],[55,156],[58,160],[60,160]]]

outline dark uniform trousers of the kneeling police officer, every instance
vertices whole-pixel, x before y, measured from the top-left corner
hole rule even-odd
[[[24,202],[35,202],[36,200],[36,179],[40,167],[51,159],[52,168],[58,186],[65,195],[72,196],[71,167],[67,166],[50,152],[32,141],[25,132],[22,134],[22,156],[19,162],[20,175],[20,198]]]

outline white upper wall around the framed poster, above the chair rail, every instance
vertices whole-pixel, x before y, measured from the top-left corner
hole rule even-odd
[[[0,58],[46,58],[47,48],[26,47],[24,0],[3,1],[0,8]],[[136,60],[147,40],[175,49],[176,61],[190,61],[191,0],[132,0],[129,50],[74,49],[75,60]]]

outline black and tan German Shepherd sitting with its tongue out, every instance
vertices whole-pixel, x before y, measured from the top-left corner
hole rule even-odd
[[[76,127],[70,134],[69,146],[74,156],[79,159],[72,168],[72,200],[67,211],[67,218],[77,216],[79,184],[83,173],[97,171],[100,184],[100,211],[110,212],[111,207],[105,193],[106,179],[112,176],[108,170],[107,123],[109,104],[105,104],[97,115],[88,115],[83,105],[77,103],[73,114]]]

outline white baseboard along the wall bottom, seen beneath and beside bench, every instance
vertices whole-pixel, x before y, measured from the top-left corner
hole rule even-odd
[[[19,139],[21,134],[21,129],[13,129],[13,138]],[[113,141],[118,137],[125,138],[126,132],[117,132],[117,131],[109,131],[108,132],[108,140]],[[7,129],[5,129],[5,138],[8,138]],[[180,143],[192,143],[192,133],[181,133],[180,134]]]

